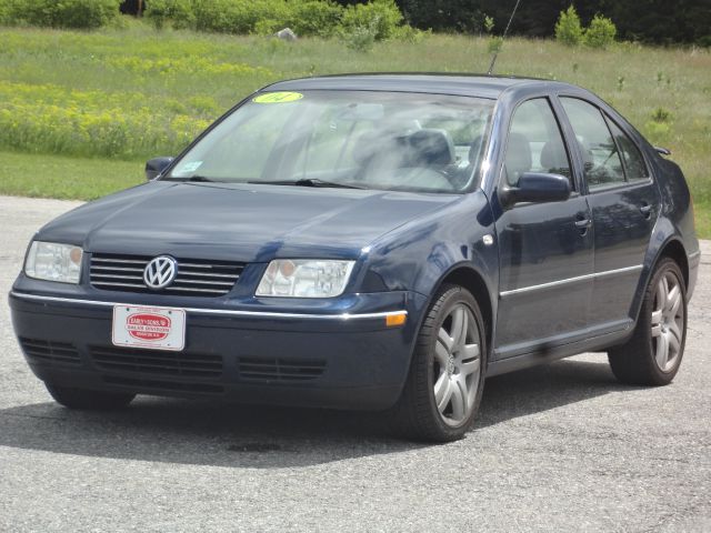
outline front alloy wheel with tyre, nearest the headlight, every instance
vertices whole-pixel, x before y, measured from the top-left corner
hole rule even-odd
[[[471,428],[483,390],[485,335],[469,291],[445,285],[422,324],[408,381],[394,408],[413,439],[448,442]]]

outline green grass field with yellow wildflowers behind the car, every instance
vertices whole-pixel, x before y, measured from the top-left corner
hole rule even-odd
[[[260,37],[0,29],[0,193],[91,199],[140,180],[212,119],[272,80],[354,71],[485,71],[487,38],[293,44]],[[670,148],[711,237],[711,53],[621,43],[608,51],[511,39],[498,73],[587,87]]]

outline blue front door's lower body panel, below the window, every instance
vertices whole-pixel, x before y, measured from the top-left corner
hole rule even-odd
[[[589,219],[583,197],[529,204],[497,221],[500,253],[495,348],[573,333],[588,325],[592,294],[592,232],[575,225]]]

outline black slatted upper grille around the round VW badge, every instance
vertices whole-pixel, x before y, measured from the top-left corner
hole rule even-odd
[[[143,271],[151,259],[148,255],[94,253],[91,257],[91,285],[109,291],[221,296],[232,290],[244,269],[243,263],[230,261],[176,259],[176,280],[170,286],[156,291],[143,281]]]

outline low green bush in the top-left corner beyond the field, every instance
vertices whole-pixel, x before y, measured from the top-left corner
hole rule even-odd
[[[114,20],[120,3],[121,0],[0,0],[0,21],[90,30]]]

